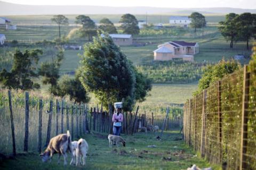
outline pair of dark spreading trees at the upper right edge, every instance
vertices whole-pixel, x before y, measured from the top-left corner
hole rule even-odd
[[[230,48],[233,48],[234,41],[246,41],[246,48],[249,49],[249,41],[256,38],[256,14],[229,13],[226,20],[219,22],[221,35],[230,41]]]

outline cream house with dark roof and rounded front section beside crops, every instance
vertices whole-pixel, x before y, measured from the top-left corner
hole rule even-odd
[[[167,61],[181,58],[183,61],[194,61],[194,55],[199,53],[198,43],[185,41],[169,41],[157,46],[154,50],[154,60]]]

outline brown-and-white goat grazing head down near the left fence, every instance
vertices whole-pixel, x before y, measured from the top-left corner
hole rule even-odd
[[[40,154],[40,157],[42,158],[43,162],[47,162],[47,160],[50,159],[53,156],[53,154],[59,154],[58,164],[60,163],[60,156],[63,155],[64,157],[64,165],[67,165],[67,152],[72,152],[73,146],[71,144],[71,135],[69,131],[67,131],[67,134],[59,134],[55,137],[53,137],[49,145],[47,146],[46,150]],[[71,154],[72,155],[72,154]],[[73,155],[72,155],[73,158]]]

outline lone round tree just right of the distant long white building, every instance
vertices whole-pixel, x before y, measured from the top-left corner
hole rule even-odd
[[[195,28],[195,32],[197,28],[203,28],[206,25],[205,16],[198,12],[193,12],[189,16],[191,18],[191,27]]]

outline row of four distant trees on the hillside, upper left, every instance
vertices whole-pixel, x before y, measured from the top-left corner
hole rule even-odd
[[[66,18],[66,16],[64,15],[54,15],[51,20],[58,24],[60,39],[61,25],[68,25],[68,18]],[[80,36],[87,37],[89,40],[91,40],[92,36],[97,35],[97,29],[100,29],[106,33],[117,33],[115,25],[107,18],[103,18],[100,20],[100,25],[98,28],[95,22],[91,20],[89,16],[85,15],[78,15],[76,17],[75,23],[82,25],[82,28],[79,30]],[[123,30],[123,33],[137,35],[140,32],[140,29],[138,27],[138,20],[132,14],[122,15],[119,23],[122,23],[120,28]]]

